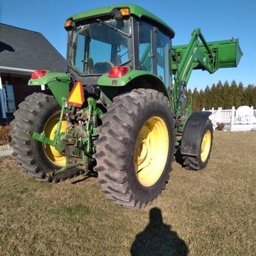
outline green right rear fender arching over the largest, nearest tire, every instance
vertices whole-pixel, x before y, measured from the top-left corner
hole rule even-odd
[[[137,69],[130,69],[130,71],[125,76],[118,78],[110,78],[109,73],[105,73],[98,79],[97,85],[102,86],[102,89],[104,90],[103,86],[108,86],[108,88],[122,87],[130,84],[131,81],[135,81],[139,78],[141,78],[142,81],[150,81],[152,83],[152,88],[154,88],[155,86],[156,89],[160,89],[161,92],[163,92],[168,98],[170,98],[168,92],[169,88],[164,85],[163,81],[160,79],[159,76],[156,76],[155,74],[147,71]],[[143,87],[143,84],[139,86]]]

